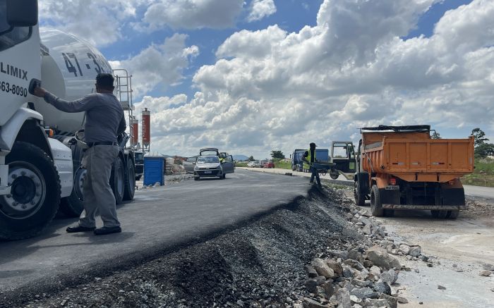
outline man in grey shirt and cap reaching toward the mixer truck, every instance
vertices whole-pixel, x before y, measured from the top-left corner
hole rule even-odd
[[[83,166],[88,170],[84,180],[84,211],[77,226],[67,228],[68,233],[94,230],[95,235],[121,232],[116,218],[116,204],[109,185],[112,164],[119,155],[117,135],[126,128],[123,109],[113,94],[114,77],[100,73],[96,76],[96,93],[75,101],[64,101],[42,87],[35,88],[35,95],[43,97],[48,104],[66,112],[85,111],[85,150]],[[96,211],[100,211],[102,228],[96,228]]]

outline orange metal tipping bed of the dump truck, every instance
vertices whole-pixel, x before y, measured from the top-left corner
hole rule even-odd
[[[363,168],[409,182],[445,183],[474,171],[474,138],[431,139],[428,133],[363,133]]]

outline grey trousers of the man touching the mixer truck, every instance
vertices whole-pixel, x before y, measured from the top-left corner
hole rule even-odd
[[[116,145],[95,145],[84,153],[83,166],[88,170],[84,180],[84,211],[80,214],[79,225],[96,226],[96,213],[99,211],[103,226],[120,226],[116,218],[115,196],[109,185],[112,164],[119,155]]]

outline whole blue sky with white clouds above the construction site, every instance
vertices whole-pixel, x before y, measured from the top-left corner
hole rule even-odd
[[[152,151],[289,154],[367,125],[494,141],[492,0],[44,0],[133,74]]]

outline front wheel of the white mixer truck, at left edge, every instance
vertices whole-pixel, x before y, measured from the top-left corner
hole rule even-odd
[[[60,178],[52,158],[39,147],[17,141],[6,156],[11,195],[0,196],[0,239],[40,233],[56,215]]]

